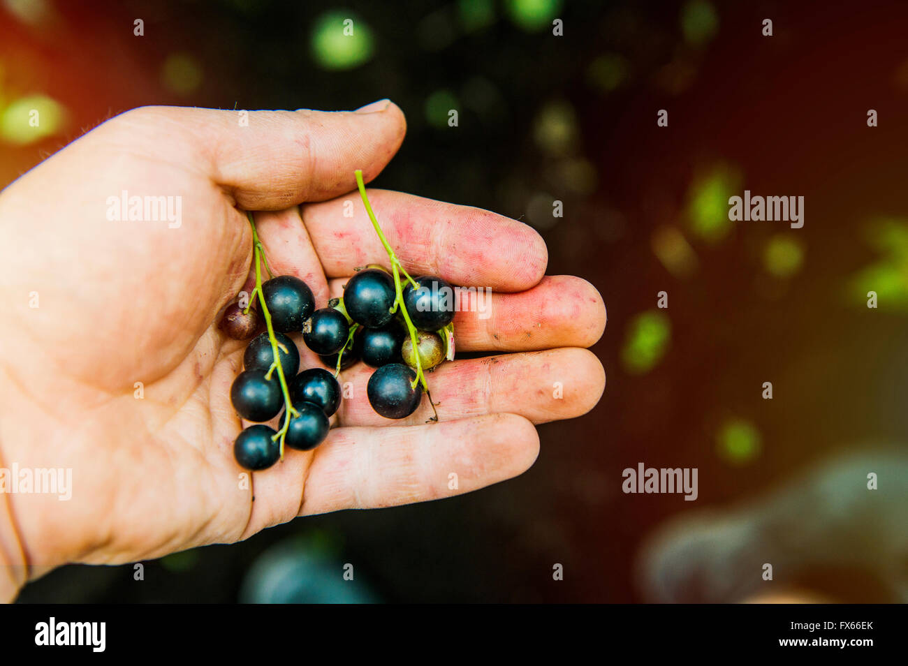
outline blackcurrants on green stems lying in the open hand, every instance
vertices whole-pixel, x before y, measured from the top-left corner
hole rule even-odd
[[[413,279],[400,266],[372,212],[361,171],[355,175],[372,226],[388,252],[390,270],[378,265],[358,270],[343,296],[331,299],[327,308],[315,309],[312,291],[301,279],[271,274],[255,221],[247,214],[255,288],[249,304],[229,306],[220,324],[231,338],[252,338],[243,355],[244,369],[231,387],[237,414],[256,422],[242,430],[233,445],[233,455],[246,469],[274,465],[284,445],[301,451],[319,446],[328,436],[329,417],[341,405],[337,377],[357,360],[378,368],[366,393],[380,416],[410,416],[423,392],[435,410],[424,371],[454,357],[454,290],[440,278]],[[271,278],[264,282],[262,263]],[[262,319],[266,330],[256,335]],[[301,335],[334,372],[311,367],[297,374],[300,353],[290,334]],[[264,425],[281,410],[280,430]],[[437,421],[438,413],[430,420]]]

